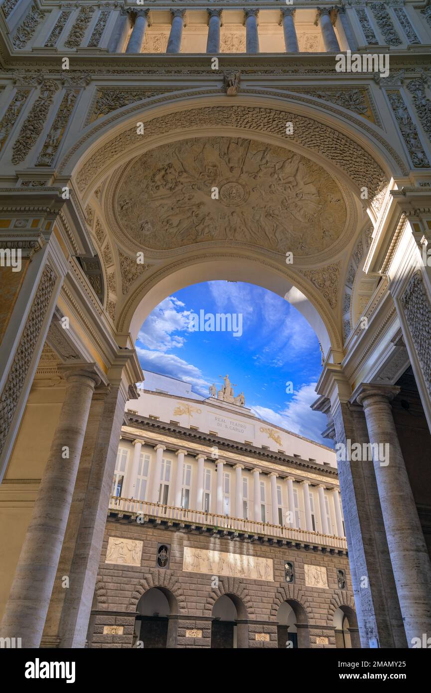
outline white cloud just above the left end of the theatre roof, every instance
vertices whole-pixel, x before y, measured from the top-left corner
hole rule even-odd
[[[140,365],[144,370],[185,380],[186,383],[192,385],[194,392],[208,397],[210,382],[205,380],[201,370],[196,366],[187,363],[187,361],[172,353],[150,351],[149,349],[142,349],[142,347],[136,347],[136,351],[138,352]]]

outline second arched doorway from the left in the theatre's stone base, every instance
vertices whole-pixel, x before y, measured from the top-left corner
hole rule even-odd
[[[212,607],[211,649],[248,647],[247,611],[236,595],[222,595]]]

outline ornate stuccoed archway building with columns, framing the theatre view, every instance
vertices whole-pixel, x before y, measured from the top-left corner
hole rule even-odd
[[[411,647],[431,632],[431,7],[207,4],[0,5],[0,635],[84,647],[138,331],[228,279],[318,335],[360,644]]]

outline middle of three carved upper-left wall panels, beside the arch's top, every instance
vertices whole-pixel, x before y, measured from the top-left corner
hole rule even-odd
[[[31,107],[17,140],[13,144],[12,164],[19,164],[24,161],[30,149],[35,145],[44,128],[57,89],[58,85],[53,80],[43,82],[40,87],[40,94]]]

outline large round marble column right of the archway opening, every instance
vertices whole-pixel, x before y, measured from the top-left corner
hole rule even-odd
[[[398,392],[399,387],[365,383],[356,400],[367,420],[398,602],[412,647],[413,638],[431,633],[431,563],[392,416],[390,402]]]

